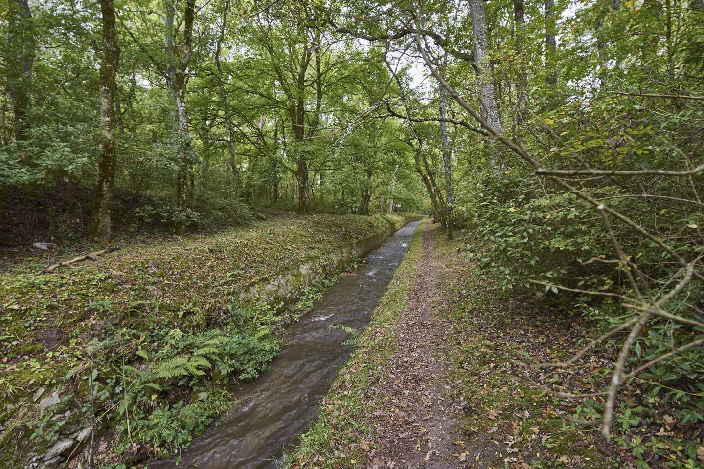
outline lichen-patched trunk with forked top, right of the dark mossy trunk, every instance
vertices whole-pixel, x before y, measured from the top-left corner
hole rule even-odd
[[[176,182],[176,203],[179,217],[176,222],[174,234],[182,236],[186,232],[186,210],[188,206],[188,169],[191,159],[191,137],[188,131],[188,113],[186,109],[187,70],[191,59],[191,39],[193,37],[193,23],[196,16],[195,0],[187,0],[184,11],[183,44],[177,47],[175,41],[174,17],[176,4],[174,0],[164,0],[166,29],[166,53],[168,68],[166,80],[170,93],[175,101],[175,131],[181,149]],[[179,52],[179,54],[177,54]]]

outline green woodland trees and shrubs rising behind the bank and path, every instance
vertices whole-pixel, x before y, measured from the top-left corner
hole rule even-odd
[[[704,420],[701,0],[0,11],[1,197],[47,234],[429,212],[505,292],[626,331],[606,437],[632,370]]]

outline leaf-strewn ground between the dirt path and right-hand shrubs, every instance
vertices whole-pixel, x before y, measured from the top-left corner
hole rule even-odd
[[[603,333],[602,323],[565,310],[564,302],[507,295],[479,262],[457,255],[461,242],[437,245],[445,292],[436,301],[446,305],[452,325],[451,398],[463,409],[467,440],[494,442],[495,461],[486,467],[704,467],[701,429],[679,416],[683,406],[666,390],[624,383],[609,441],[600,432],[603,396],[553,394],[603,392],[619,342],[605,343],[572,368],[520,366],[570,359]]]

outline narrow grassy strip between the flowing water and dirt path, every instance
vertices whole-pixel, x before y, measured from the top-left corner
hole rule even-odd
[[[367,416],[388,399],[374,394],[372,387],[396,347],[396,326],[422,257],[423,229],[420,224],[415,230],[406,257],[379,300],[369,326],[356,338],[357,349],[323,399],[318,420],[301,435],[301,445],[284,457],[285,468],[366,467],[361,451],[369,443],[365,438],[374,431]]]

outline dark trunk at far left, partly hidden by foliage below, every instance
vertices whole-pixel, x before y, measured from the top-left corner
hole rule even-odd
[[[27,108],[32,91],[32,65],[34,64],[34,32],[32,12],[27,0],[8,0],[7,88],[14,113],[15,141],[24,140],[29,124]]]

